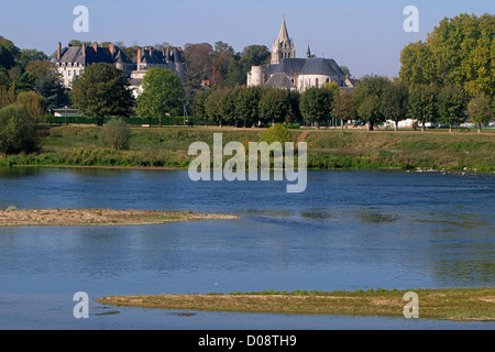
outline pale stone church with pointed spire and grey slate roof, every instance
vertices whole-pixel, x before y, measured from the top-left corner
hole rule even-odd
[[[266,86],[304,92],[312,87],[337,82],[339,88],[353,88],[353,81],[332,58],[316,57],[308,45],[306,58],[297,58],[294,40],[282,20],[278,37],[273,42],[268,65],[253,66],[248,73],[248,87]]]

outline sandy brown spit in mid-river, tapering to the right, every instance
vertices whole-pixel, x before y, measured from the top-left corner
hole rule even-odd
[[[28,226],[144,226],[178,221],[239,219],[228,215],[206,215],[156,211],[156,210],[112,210],[112,209],[15,209],[0,210],[0,227]]]

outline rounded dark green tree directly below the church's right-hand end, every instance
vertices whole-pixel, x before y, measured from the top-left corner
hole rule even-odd
[[[331,118],[333,91],[326,88],[312,87],[300,97],[300,112],[308,122],[316,123],[317,128]]]

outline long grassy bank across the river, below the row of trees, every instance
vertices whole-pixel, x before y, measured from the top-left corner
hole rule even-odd
[[[47,128],[41,150],[29,155],[0,157],[0,166],[69,165],[187,167],[193,142],[212,145],[213,133],[223,143],[257,142],[263,129],[132,128],[129,151],[105,148],[100,129],[88,125]],[[495,133],[444,131],[290,130],[295,142],[308,143],[309,168],[448,168],[495,170]]]

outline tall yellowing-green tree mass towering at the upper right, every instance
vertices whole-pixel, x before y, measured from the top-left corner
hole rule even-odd
[[[490,13],[443,19],[426,42],[403,50],[399,79],[408,87],[457,86],[469,97],[495,95],[494,31]]]

